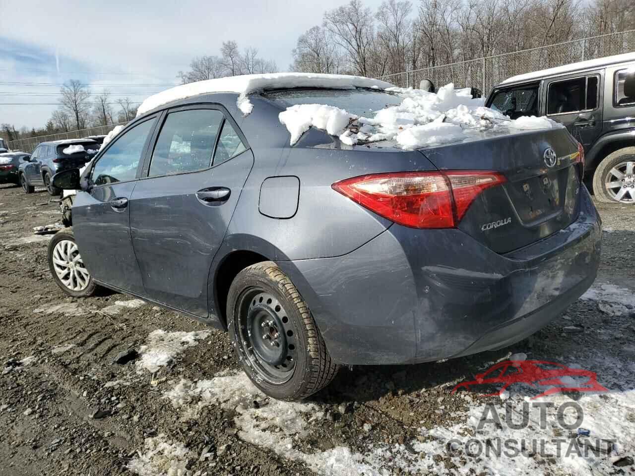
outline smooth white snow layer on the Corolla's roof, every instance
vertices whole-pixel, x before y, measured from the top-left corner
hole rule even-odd
[[[221,77],[182,84],[175,88],[166,89],[147,98],[137,110],[137,117],[164,104],[208,93],[237,93],[236,105],[245,116],[250,114],[253,105],[247,98],[248,94],[273,89],[293,88],[326,88],[352,89],[377,88],[386,89],[394,86],[391,83],[370,79],[362,76],[348,76],[345,74],[318,73],[274,73],[274,74],[244,74],[242,76]]]

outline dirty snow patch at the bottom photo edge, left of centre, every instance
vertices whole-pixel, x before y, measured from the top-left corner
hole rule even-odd
[[[170,442],[163,433],[146,438],[144,453],[128,463],[128,469],[140,476],[185,476],[187,461],[192,457],[182,444]]]

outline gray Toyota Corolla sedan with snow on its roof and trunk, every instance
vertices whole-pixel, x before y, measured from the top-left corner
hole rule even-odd
[[[403,100],[301,85],[183,95],[107,140],[81,176],[58,173],[55,186],[79,189],[49,247],[58,285],[226,329],[280,399],[318,391],[340,364],[510,345],[591,286],[601,225],[566,129],[481,127],[408,148],[347,145],[329,123],[291,145],[279,114],[297,105],[362,116]]]

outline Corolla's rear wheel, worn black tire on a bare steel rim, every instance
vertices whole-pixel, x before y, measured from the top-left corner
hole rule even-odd
[[[262,301],[262,296],[271,298]],[[277,347],[282,347],[281,353],[287,354],[281,364],[284,369],[281,366],[272,368],[257,353],[256,349],[262,348],[260,346],[265,336],[261,339],[259,333],[253,332],[253,326],[260,329],[257,323],[264,325],[267,321],[263,319],[269,319],[259,317],[258,313],[269,313],[271,319],[276,321],[273,325],[275,333],[270,334],[276,337],[276,343],[277,339],[281,340]],[[283,317],[280,317],[281,314]],[[272,261],[244,268],[234,278],[227,296],[227,324],[232,345],[245,373],[256,387],[275,399],[305,399],[326,387],[337,373],[338,366],[326,350],[311,311],[290,279]],[[280,326],[284,331],[278,328]],[[271,328],[265,326],[264,333]],[[277,331],[283,331],[279,333],[279,338]],[[271,341],[271,338],[267,339]],[[293,344],[289,341],[293,341]],[[272,352],[276,352],[275,346]],[[290,354],[293,355],[292,359]],[[284,365],[289,363],[287,360],[293,364],[290,370]],[[276,373],[276,369],[280,371]],[[272,376],[270,371],[275,375]],[[286,377],[278,378],[278,374],[284,376],[285,372],[288,374]]]

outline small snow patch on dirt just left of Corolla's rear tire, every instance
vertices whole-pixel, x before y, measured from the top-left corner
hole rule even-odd
[[[163,329],[152,331],[147,338],[147,345],[139,349],[141,358],[137,360],[137,371],[144,369],[156,372],[168,366],[173,358],[188,347],[193,347],[199,340],[206,339],[210,331],[166,332]]]

